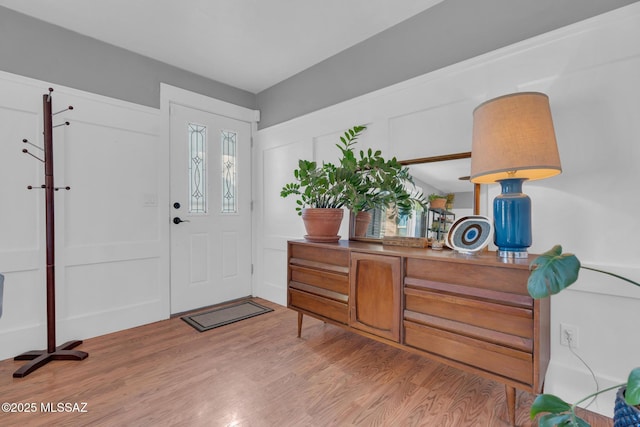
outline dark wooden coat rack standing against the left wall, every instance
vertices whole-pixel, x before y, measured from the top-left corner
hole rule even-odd
[[[40,187],[45,190],[45,206],[46,206],[46,244],[47,244],[47,349],[34,350],[16,356],[14,360],[30,360],[29,363],[23,365],[20,369],[13,373],[15,378],[22,378],[31,372],[46,365],[52,360],[83,360],[89,356],[89,353],[73,348],[82,344],[82,341],[68,341],[61,346],[56,347],[56,292],[55,292],[55,240],[54,240],[54,192],[58,190],[70,190],[70,187],[55,187],[53,179],[53,128],[58,126],[67,126],[69,122],[60,125],[53,125],[53,116],[63,111],[72,110],[69,106],[64,110],[52,113],[51,103],[52,88],[49,93],[42,95],[42,109],[44,116],[44,148],[40,148],[35,144],[23,139],[22,142],[36,147],[44,153],[44,159],[23,149],[22,152],[35,157],[44,163],[44,184]],[[27,187],[29,190],[33,186]]]

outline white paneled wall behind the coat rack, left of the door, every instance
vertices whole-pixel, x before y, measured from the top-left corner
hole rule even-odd
[[[0,359],[46,340],[42,94],[53,87],[58,344],[167,318],[168,172],[160,111],[0,72]],[[28,147],[30,151],[38,150]],[[82,349],[80,347],[79,349]]]

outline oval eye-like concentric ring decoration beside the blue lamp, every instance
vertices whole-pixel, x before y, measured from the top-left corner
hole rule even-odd
[[[446,244],[463,254],[482,250],[489,244],[493,235],[491,220],[482,215],[470,215],[459,218],[453,223]]]

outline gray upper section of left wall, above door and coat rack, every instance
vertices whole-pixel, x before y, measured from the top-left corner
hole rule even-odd
[[[255,109],[256,96],[0,7],[0,70],[149,107],[160,82]]]

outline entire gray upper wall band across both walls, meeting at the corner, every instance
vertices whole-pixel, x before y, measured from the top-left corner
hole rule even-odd
[[[636,1],[445,0],[257,95],[0,7],[0,70],[156,108],[163,82],[264,129]]]

